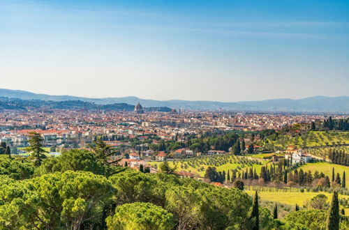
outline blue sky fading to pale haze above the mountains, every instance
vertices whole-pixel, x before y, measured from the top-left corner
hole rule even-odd
[[[233,102],[348,82],[348,0],[0,0],[4,89]]]

